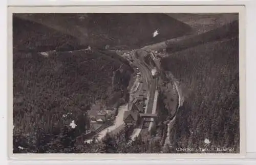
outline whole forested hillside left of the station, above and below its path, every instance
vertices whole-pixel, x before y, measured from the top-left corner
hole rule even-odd
[[[133,69],[113,52],[73,50],[86,45],[44,25],[19,18],[13,25],[14,152],[63,151],[90,128],[91,104],[116,107],[126,98]],[[37,53],[48,50],[57,51]],[[77,127],[69,130],[72,120]]]

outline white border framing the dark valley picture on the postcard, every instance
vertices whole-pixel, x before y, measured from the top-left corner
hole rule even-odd
[[[131,10],[132,8],[132,10]],[[240,153],[239,154],[13,154],[12,153],[12,13],[239,13]],[[8,8],[8,153],[13,159],[236,159],[245,142],[245,6],[20,6]]]

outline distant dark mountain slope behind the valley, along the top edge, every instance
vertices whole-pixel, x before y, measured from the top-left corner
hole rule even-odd
[[[69,34],[85,45],[135,49],[191,31],[189,25],[161,13],[16,14]],[[74,25],[75,24],[75,25]],[[153,37],[158,30],[159,35]]]

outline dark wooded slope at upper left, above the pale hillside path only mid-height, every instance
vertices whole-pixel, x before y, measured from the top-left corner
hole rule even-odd
[[[87,48],[77,38],[39,23],[13,17],[13,51],[69,51]]]

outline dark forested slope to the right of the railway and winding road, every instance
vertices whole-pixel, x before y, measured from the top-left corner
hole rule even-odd
[[[201,44],[198,38],[191,38],[189,46],[161,60],[164,70],[180,81],[185,97],[170,133],[171,152],[177,152],[177,147],[215,149],[204,152],[217,152],[220,147],[233,149],[227,153],[239,152],[238,31],[217,36],[218,40],[209,34],[212,32],[203,34]]]

